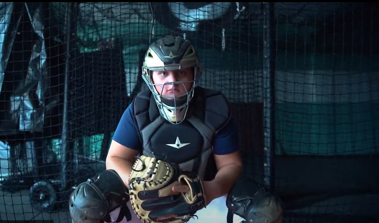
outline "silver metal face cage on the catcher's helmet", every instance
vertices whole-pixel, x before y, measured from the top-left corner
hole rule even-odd
[[[196,64],[192,66],[186,66],[185,68],[194,67],[194,79],[192,81],[183,82],[183,81],[177,81],[177,82],[167,82],[164,84],[154,84],[152,81],[152,75],[151,71],[156,69],[148,69],[143,68],[143,79],[146,82],[147,86],[149,87],[150,91],[153,93],[153,97],[155,99],[155,102],[158,105],[158,110],[160,111],[161,115],[164,119],[171,122],[172,124],[179,124],[182,121],[184,121],[187,112],[188,112],[188,105],[191,99],[194,96],[194,90],[198,85],[198,80],[200,77],[200,63],[196,62]],[[179,67],[179,70],[181,68]],[[161,70],[161,69],[157,69]],[[163,70],[177,70],[177,69],[163,69]],[[199,72],[200,71],[200,72]],[[185,85],[186,83],[191,83],[192,86],[189,90],[186,89]],[[174,96],[163,96],[163,89],[166,85],[180,85],[182,84],[184,89],[186,90],[185,94],[182,95],[175,95]],[[162,91],[158,92],[157,88],[155,86],[160,85],[162,87]],[[180,101],[180,102],[179,102]],[[167,103],[170,102],[170,103]]]

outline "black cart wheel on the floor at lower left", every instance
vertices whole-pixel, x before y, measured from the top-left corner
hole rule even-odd
[[[30,201],[39,211],[53,211],[56,203],[56,191],[49,182],[39,181],[30,187]]]

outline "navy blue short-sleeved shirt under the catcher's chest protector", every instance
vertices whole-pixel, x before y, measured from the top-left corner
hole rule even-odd
[[[122,115],[113,140],[122,146],[142,152],[142,144],[139,140],[136,124],[133,119],[133,103],[128,106]],[[233,121],[230,121],[222,129],[213,141],[213,153],[227,155],[238,151],[238,136]]]

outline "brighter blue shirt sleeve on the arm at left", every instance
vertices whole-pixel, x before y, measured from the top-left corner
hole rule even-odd
[[[141,141],[137,132],[137,127],[133,119],[133,103],[131,103],[122,115],[116,131],[113,135],[113,140],[134,150],[142,150]]]

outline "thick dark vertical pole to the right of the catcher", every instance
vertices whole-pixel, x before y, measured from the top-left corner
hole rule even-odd
[[[264,183],[273,192],[275,187],[275,19],[274,2],[263,2],[263,128]]]

